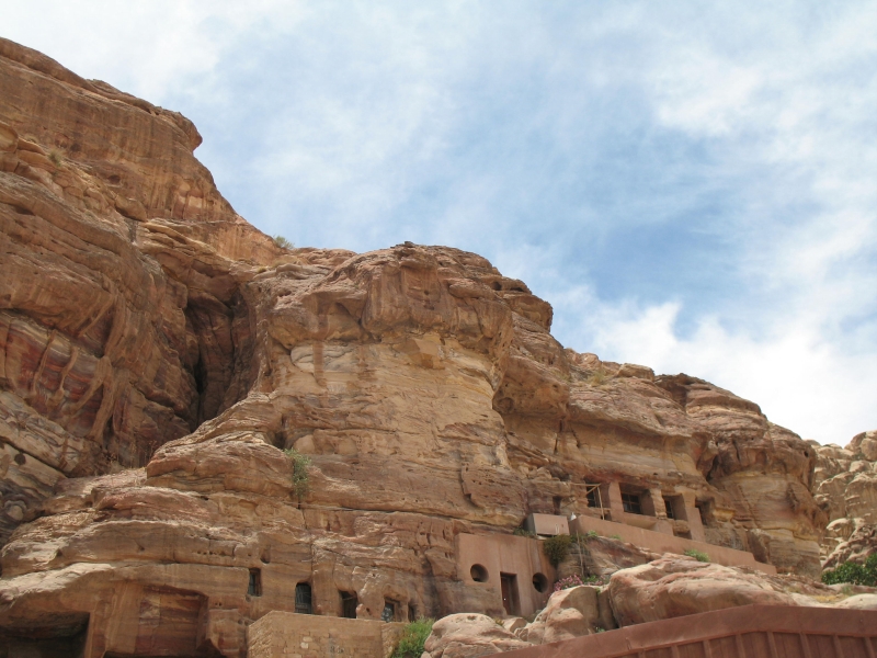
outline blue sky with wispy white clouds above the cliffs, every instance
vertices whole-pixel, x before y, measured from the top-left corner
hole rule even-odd
[[[877,3],[44,2],[0,34],[174,109],[298,246],[481,253],[578,351],[877,428]]]

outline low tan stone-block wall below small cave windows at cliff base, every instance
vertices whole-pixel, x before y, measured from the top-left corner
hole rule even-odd
[[[270,612],[248,631],[248,658],[385,658],[402,623]]]

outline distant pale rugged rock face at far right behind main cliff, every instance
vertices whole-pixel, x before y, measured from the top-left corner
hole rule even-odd
[[[845,449],[815,447],[813,494],[829,520],[823,565],[864,563],[877,552],[877,431],[857,434]]]

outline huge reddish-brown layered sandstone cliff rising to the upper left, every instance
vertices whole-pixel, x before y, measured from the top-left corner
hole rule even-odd
[[[588,483],[818,574],[815,450],[756,405],[565,350],[476,254],[278,249],[200,139],[0,39],[0,633],[232,656],[299,582],[322,614],[478,610],[456,535],[586,513]]]

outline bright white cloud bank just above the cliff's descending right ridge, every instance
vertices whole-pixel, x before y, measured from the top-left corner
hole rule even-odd
[[[850,353],[796,318],[758,339],[703,318],[688,338],[675,328],[677,304],[646,308],[594,304],[582,333],[604,359],[685,372],[759,402],[767,417],[806,439],[845,444],[874,426],[877,355]]]

